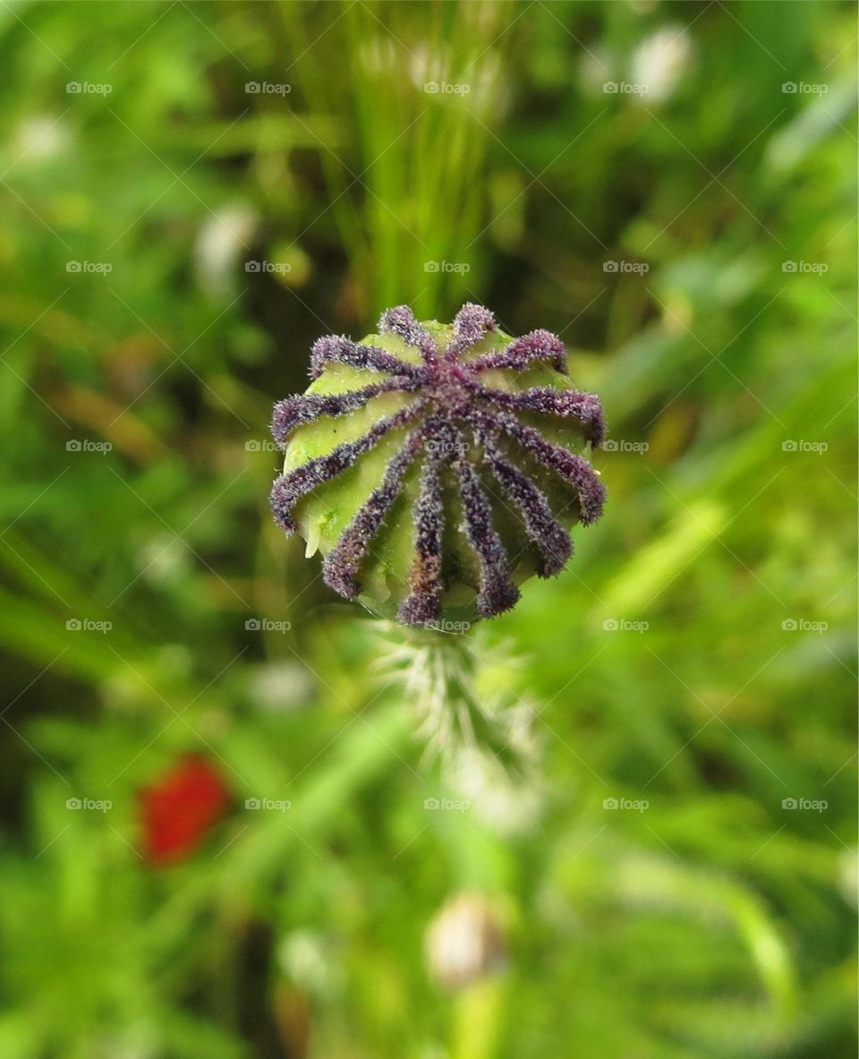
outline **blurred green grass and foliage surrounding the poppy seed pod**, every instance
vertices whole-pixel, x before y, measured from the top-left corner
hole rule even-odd
[[[0,33],[3,1059],[854,1055],[854,6]],[[559,333],[613,442],[567,572],[468,641],[536,704],[516,813],[426,807],[396,634],[267,507],[312,340],[465,300]],[[189,753],[230,810],[159,867]],[[458,894],[505,958],[451,990]]]

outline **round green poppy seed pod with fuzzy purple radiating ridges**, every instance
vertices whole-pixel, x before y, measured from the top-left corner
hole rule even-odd
[[[325,582],[405,625],[472,622],[554,576],[605,489],[581,454],[605,439],[563,343],[513,339],[467,304],[451,325],[389,309],[360,342],[319,339],[304,394],[274,407],[286,453],[271,506]]]

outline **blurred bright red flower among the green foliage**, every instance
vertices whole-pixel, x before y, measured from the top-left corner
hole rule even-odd
[[[189,755],[139,793],[145,856],[165,867],[197,849],[227,811],[230,792],[204,757]]]

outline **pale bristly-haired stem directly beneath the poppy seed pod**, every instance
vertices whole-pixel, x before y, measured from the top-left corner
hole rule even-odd
[[[500,676],[512,667],[508,647],[488,645],[482,630],[377,628],[382,643],[373,675],[397,687],[404,707],[414,712],[426,746],[422,764],[437,760],[455,795],[495,830],[526,828],[542,802],[536,711]]]

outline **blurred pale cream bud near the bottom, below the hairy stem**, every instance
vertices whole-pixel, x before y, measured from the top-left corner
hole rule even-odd
[[[464,989],[506,961],[500,916],[483,894],[451,898],[427,930],[427,967],[447,989]]]

